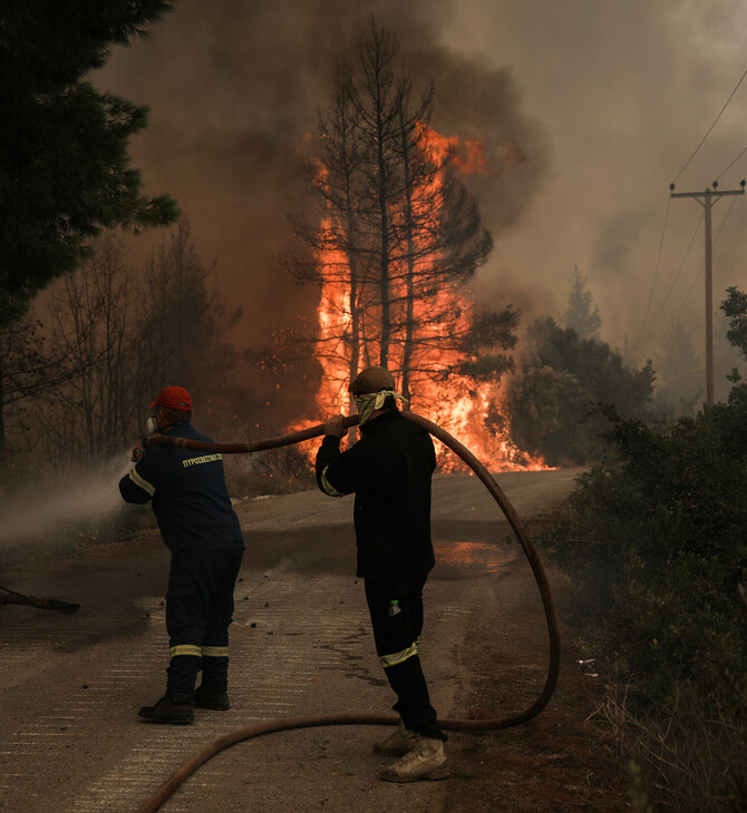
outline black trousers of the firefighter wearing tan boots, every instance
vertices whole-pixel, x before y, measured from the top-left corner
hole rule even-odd
[[[376,652],[397,695],[395,712],[410,731],[446,741],[446,735],[436,724],[436,709],[430,705],[417,654],[417,640],[423,631],[425,584],[425,578],[405,581],[365,579],[366,600]]]

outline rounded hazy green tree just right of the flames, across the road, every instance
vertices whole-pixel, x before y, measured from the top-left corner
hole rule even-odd
[[[651,365],[629,369],[609,344],[580,339],[550,317],[534,322],[530,339],[535,350],[507,389],[513,441],[551,466],[598,459],[607,421],[594,404],[642,415],[652,393]]]

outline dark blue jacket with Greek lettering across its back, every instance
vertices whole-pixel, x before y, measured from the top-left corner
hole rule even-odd
[[[176,423],[168,433],[210,442],[190,423]],[[122,478],[119,492],[127,502],[153,500],[161,535],[174,554],[200,547],[243,548],[220,454],[154,443],[129,474]]]

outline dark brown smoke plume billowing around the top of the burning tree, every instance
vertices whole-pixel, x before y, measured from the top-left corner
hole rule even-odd
[[[182,0],[148,41],[118,51],[96,77],[149,105],[135,163],[149,190],[177,197],[222,295],[243,307],[239,344],[259,346],[316,307],[314,288],[294,285],[278,255],[292,242],[287,215],[308,206],[301,151],[330,101],[334,60],[355,61],[371,14],[396,32],[416,91],[435,81],[436,129],[485,141],[489,172],[470,182],[485,225],[497,236],[522,217],[546,172],[545,137],[508,69],[442,43],[457,8]],[[289,411],[300,405],[288,393],[284,401]]]

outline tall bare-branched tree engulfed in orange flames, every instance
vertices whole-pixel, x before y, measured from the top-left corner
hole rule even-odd
[[[305,337],[322,366],[320,408],[347,410],[348,382],[380,364],[418,409],[466,422],[475,405],[485,417],[485,388],[511,365],[518,314],[476,312],[468,282],[493,241],[462,175],[483,169],[481,147],[430,127],[434,88],[415,99],[398,57],[395,36],[371,22],[357,70],[338,63],[309,166],[321,214],[294,221],[308,252],[287,264],[321,288]]]

